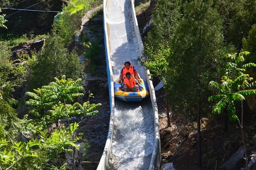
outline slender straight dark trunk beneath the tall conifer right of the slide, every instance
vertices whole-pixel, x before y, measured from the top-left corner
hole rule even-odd
[[[201,143],[201,96],[199,94],[197,111],[197,143],[198,143],[198,170],[202,169],[202,143]]]

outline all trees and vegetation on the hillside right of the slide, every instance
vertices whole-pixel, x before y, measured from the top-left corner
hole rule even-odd
[[[181,126],[177,127],[177,143],[196,138],[198,158],[193,159],[194,164],[212,170],[243,143],[244,148],[255,144],[255,133],[249,133],[255,125],[255,114],[249,109],[254,109],[255,99],[245,96],[255,95],[256,2],[157,0],[153,14],[153,28],[144,37],[143,63],[163,81],[164,105],[177,116],[176,125]],[[207,120],[203,126],[202,117]],[[204,131],[203,147],[200,127],[208,129]],[[223,143],[218,149],[211,141],[214,137],[206,139],[212,128],[215,137],[223,132],[227,137],[218,141]],[[189,136],[192,130],[197,130],[197,137]]]

